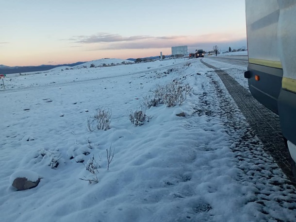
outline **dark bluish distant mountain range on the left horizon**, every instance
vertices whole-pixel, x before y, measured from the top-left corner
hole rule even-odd
[[[77,63],[71,63],[71,64],[61,64],[61,65],[41,65],[41,66],[15,66],[15,67],[9,67],[0,65],[0,74],[12,74],[12,73],[22,73],[22,72],[35,72],[35,71],[46,71],[51,68],[56,68],[60,66],[77,66],[85,62],[77,62]]]

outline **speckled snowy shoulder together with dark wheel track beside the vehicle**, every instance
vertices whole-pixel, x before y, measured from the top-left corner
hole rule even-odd
[[[248,96],[249,92],[225,71],[202,60],[201,63],[213,68],[217,75],[213,72],[206,75],[213,89],[204,93],[200,100],[205,108],[209,107],[210,97],[217,101],[214,106],[218,107],[208,113],[223,121],[231,138],[230,149],[238,169],[235,178],[240,186],[254,194],[247,205],[258,207],[262,213],[258,218],[262,221],[293,221],[291,218],[295,219],[295,216],[291,212],[296,210],[296,183],[291,182],[294,178],[285,153],[282,153],[287,150],[280,135],[278,119],[260,103],[256,104]],[[261,115],[257,116],[257,113]],[[281,217],[279,210],[282,211]]]

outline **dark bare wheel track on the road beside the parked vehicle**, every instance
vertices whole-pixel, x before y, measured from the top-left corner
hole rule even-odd
[[[291,172],[289,152],[281,135],[280,120],[277,115],[257,102],[250,92],[233,79],[226,71],[201,60],[201,63],[213,68],[234,102],[245,116],[251,130],[262,141],[263,150],[270,154],[294,186],[296,178]],[[254,136],[255,136],[254,135]],[[245,135],[247,137],[247,134]]]

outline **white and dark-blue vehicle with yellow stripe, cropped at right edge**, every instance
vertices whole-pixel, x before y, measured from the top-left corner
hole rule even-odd
[[[246,0],[249,89],[280,117],[296,176],[296,0]]]

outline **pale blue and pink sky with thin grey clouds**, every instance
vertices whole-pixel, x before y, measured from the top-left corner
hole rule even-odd
[[[245,0],[0,0],[0,65],[246,47]]]

